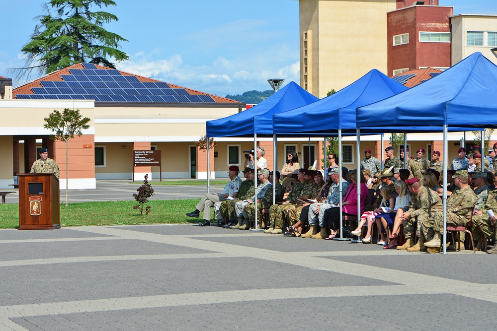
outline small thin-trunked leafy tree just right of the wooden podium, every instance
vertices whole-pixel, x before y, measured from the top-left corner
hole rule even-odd
[[[80,110],[74,110],[65,108],[64,111],[59,112],[58,110],[54,110],[48,117],[45,119],[45,124],[43,128],[48,129],[54,134],[50,135],[50,139],[52,140],[60,140],[66,143],[66,207],[69,199],[69,148],[68,141],[69,139],[74,138],[75,134],[81,136],[83,133],[81,130],[88,129],[90,126],[88,122],[89,118],[82,118],[80,114]]]

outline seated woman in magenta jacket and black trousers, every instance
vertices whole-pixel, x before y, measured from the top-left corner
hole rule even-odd
[[[357,173],[355,171],[349,171],[349,177],[352,181],[352,184],[349,186],[347,193],[343,197],[343,202],[341,203],[342,214],[357,216],[357,210],[359,209],[362,213],[364,213],[364,205],[366,203],[366,198],[368,196],[368,187],[366,186],[366,179],[362,172],[360,173],[360,183],[357,183]],[[360,185],[361,188],[361,200],[357,201],[357,185]],[[325,229],[330,229],[330,236],[325,238],[327,240],[331,240],[336,236],[339,236],[340,231],[340,207],[330,208],[325,211],[323,218],[323,227]]]

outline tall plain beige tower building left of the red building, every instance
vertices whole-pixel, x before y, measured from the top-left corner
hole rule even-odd
[[[376,68],[387,73],[396,0],[300,0],[300,86],[320,98]]]

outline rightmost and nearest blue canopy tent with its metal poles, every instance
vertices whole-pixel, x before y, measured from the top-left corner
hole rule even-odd
[[[371,118],[388,119],[381,127],[443,126],[443,254],[446,254],[447,131],[449,126],[496,128],[497,66],[480,52],[413,88],[357,108],[357,127],[375,127]],[[380,126],[380,125],[378,125]],[[474,130],[474,129],[473,129]],[[482,142],[483,140],[482,134]],[[484,144],[482,143],[482,146]],[[482,148],[484,153],[485,148]]]

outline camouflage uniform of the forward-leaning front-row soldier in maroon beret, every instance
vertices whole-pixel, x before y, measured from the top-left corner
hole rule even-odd
[[[442,200],[435,191],[422,186],[419,193],[411,197],[409,213],[411,217],[403,222],[405,238],[413,238],[415,231],[418,237],[430,241],[433,239],[432,227],[435,216],[441,214],[443,217]]]

